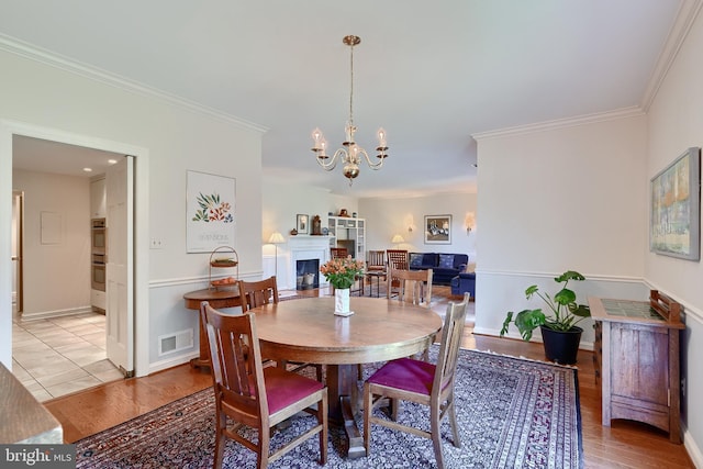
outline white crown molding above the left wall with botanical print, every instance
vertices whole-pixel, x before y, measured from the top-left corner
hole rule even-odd
[[[64,57],[59,54],[51,51],[37,47],[30,43],[20,41],[18,38],[0,34],[0,51],[8,52],[10,54],[18,55],[20,57],[27,58],[30,60],[38,62],[44,65],[48,65],[54,68],[58,68],[71,74],[79,75],[83,78],[88,78],[94,81],[99,81],[104,85],[109,85],[115,88],[120,88],[130,92],[134,92],[144,97],[156,98],[168,102],[169,104],[178,105],[188,111],[194,111],[215,118],[221,121],[237,125],[242,129],[256,131],[259,133],[268,132],[268,127],[256,124],[254,122],[246,121],[241,118],[236,118],[232,114],[227,114],[214,108],[199,104],[194,101],[171,94],[156,88],[140,83],[125,77],[121,77],[115,74],[111,74],[107,70],[98,67],[83,64],[68,57]]]

